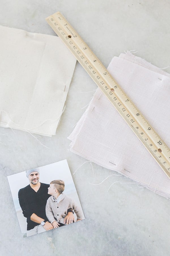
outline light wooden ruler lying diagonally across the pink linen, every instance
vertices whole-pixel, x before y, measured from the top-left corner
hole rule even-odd
[[[47,17],[46,21],[170,179],[170,148],[64,16],[57,12]]]

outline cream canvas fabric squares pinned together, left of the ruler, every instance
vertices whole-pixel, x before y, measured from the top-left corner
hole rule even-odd
[[[57,36],[0,26],[0,126],[56,134],[76,59]]]

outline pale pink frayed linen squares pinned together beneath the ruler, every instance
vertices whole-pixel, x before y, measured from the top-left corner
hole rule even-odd
[[[130,52],[108,70],[170,146],[170,75]],[[69,139],[72,152],[170,197],[170,179],[99,88]]]

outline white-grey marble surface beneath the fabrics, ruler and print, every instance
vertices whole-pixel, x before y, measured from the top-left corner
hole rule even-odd
[[[158,67],[170,65],[170,3],[165,1],[63,0],[1,1],[0,24],[29,32],[55,35],[45,18],[60,11],[92,51],[107,67],[113,56],[124,50]],[[170,69],[166,69],[170,72]],[[152,193],[129,179],[112,176],[113,172],[71,153],[67,137],[84,113],[97,88],[76,63],[67,96],[66,109],[52,138],[1,128],[1,255],[170,255],[169,200]],[[84,93],[82,93],[84,92]],[[77,97],[78,96],[78,97]],[[75,99],[77,101],[75,102]],[[51,230],[22,238],[7,176],[67,159],[84,215],[82,222],[60,230]]]

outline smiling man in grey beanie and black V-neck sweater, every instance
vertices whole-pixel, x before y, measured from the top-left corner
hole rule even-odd
[[[22,213],[27,218],[27,236],[42,233],[53,229],[53,226],[46,217],[45,207],[48,195],[49,184],[39,182],[39,169],[26,171],[29,185],[18,191],[18,199]],[[65,217],[65,223],[74,221],[73,210],[69,209]]]

